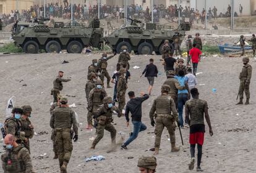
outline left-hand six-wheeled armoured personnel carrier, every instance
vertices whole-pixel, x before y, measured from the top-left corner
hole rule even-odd
[[[12,38],[27,54],[36,54],[42,49],[49,53],[66,49],[68,53],[79,54],[85,46],[100,49],[103,45],[103,28],[100,28],[99,20],[93,20],[88,27],[63,22],[53,22],[52,26],[18,22]]]

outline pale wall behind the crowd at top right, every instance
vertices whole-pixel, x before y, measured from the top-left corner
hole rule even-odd
[[[220,14],[220,12],[226,13],[226,11],[228,10],[228,5],[231,2],[230,0],[206,1],[207,10],[209,9],[209,7],[213,9],[213,7],[216,6],[216,8],[218,9],[217,14]],[[234,12],[237,12],[237,14],[239,15],[239,4],[241,4],[243,7],[242,15],[250,15],[250,2],[251,0],[234,0]],[[205,0],[190,0],[190,6],[202,12],[202,9],[205,7]]]

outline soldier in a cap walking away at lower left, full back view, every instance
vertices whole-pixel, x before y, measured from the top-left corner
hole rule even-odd
[[[59,166],[62,173],[67,172],[67,164],[73,150],[72,130],[75,133],[74,142],[78,140],[78,124],[74,111],[67,105],[67,98],[61,97],[61,105],[53,110],[50,126],[56,131],[56,143],[59,148]]]

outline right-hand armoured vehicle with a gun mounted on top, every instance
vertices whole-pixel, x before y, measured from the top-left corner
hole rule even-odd
[[[173,29],[171,26],[147,23],[146,29],[143,29],[143,26],[138,25],[142,22],[128,19],[131,20],[130,26],[114,30],[113,33],[104,38],[106,44],[114,52],[120,53],[123,48],[126,48],[128,52],[134,50],[135,54],[151,55],[155,51],[157,55],[160,55],[165,39],[168,39],[171,45],[176,38],[179,38],[181,43],[186,31],[190,30],[188,22],[182,23],[177,29]],[[174,49],[174,46],[172,47]]]

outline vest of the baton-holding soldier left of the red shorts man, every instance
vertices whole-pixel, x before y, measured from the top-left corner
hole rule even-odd
[[[171,96],[160,95],[156,99],[156,114],[170,114]]]

